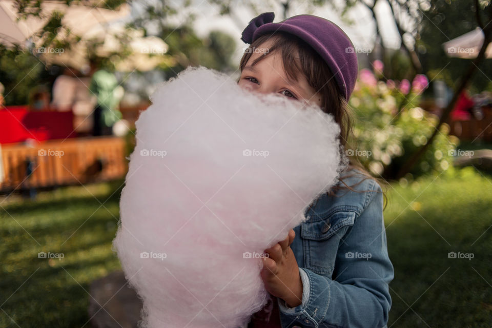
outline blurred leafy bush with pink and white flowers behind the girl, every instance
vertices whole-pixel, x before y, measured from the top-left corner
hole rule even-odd
[[[427,142],[439,118],[419,107],[421,94],[428,87],[425,75],[416,75],[412,83],[403,79],[383,81],[382,63],[374,63],[374,72],[362,69],[349,105],[354,109],[356,149],[346,149],[347,156],[357,156],[375,176],[393,179],[408,158]],[[448,135],[443,124],[432,145],[404,179],[413,179],[452,166],[458,138]]]

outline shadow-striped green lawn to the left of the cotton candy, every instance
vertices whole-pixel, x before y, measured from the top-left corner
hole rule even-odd
[[[89,320],[90,282],[120,268],[111,242],[121,182],[40,192],[35,202],[0,198],[0,327],[81,327]],[[42,251],[64,258],[40,259]]]

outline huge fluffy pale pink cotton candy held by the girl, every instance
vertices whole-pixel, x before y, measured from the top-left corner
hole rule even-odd
[[[263,251],[345,168],[319,107],[189,67],[136,121],[113,242],[143,326],[231,327],[267,302]]]

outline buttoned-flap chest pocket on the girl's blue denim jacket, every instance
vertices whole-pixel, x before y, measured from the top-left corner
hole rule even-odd
[[[333,273],[340,242],[346,230],[354,224],[356,212],[339,210],[329,215],[315,215],[301,223],[304,243],[304,265],[322,275]]]

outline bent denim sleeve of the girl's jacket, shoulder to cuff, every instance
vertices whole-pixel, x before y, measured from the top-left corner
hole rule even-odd
[[[305,327],[386,325],[391,307],[388,283],[394,271],[387,253],[381,187],[371,181],[367,206],[339,243],[333,279],[299,268],[302,303],[288,308],[278,300],[280,311],[293,321]]]

